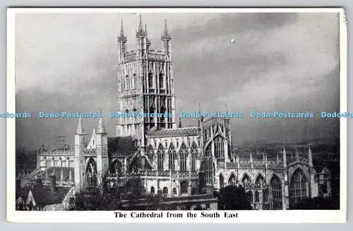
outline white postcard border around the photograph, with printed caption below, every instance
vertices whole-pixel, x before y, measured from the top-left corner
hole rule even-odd
[[[340,13],[340,111],[347,112],[347,22],[343,8],[8,8],[7,11],[7,112],[15,112],[15,14],[16,13]],[[16,124],[6,119],[7,220],[25,223],[345,223],[347,218],[347,119],[340,119],[339,211],[237,211],[238,218],[115,218],[114,211],[16,211]],[[141,211],[136,211],[141,212]],[[157,211],[156,211],[157,212]],[[215,211],[204,211],[213,213]],[[164,215],[167,211],[164,211]],[[229,211],[234,213],[234,211]],[[255,219],[256,218],[256,219]]]

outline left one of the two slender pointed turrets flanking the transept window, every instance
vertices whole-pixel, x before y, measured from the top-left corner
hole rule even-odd
[[[83,156],[85,150],[85,130],[83,129],[83,124],[81,119],[78,119],[78,126],[77,131],[75,134],[75,144],[74,144],[74,151],[75,157],[73,161],[73,166],[75,168],[75,184],[76,188],[79,190],[83,185],[83,168],[82,165],[85,165],[85,157]]]

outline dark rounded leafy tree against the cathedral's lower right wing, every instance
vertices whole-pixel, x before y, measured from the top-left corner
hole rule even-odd
[[[251,210],[251,192],[242,186],[226,186],[217,194],[219,210]]]

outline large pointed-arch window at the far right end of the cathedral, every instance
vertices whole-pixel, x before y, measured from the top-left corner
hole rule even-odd
[[[309,185],[304,172],[299,168],[294,172],[289,191],[289,204],[295,206],[300,203],[301,199],[309,197]]]

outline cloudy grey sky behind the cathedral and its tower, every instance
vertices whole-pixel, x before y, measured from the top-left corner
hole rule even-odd
[[[337,13],[143,13],[152,49],[161,49],[164,18],[172,35],[176,117],[181,112],[242,112],[234,143],[306,141],[339,136],[337,119],[249,119],[249,112],[339,111]],[[16,15],[17,148],[73,143],[78,119],[38,119],[38,112],[114,111],[116,35],[121,20],[135,48],[135,13]],[[234,40],[235,42],[230,42]],[[104,119],[115,136],[114,119]],[[183,119],[184,126],[195,126]],[[92,133],[97,119],[83,119]],[[90,136],[90,135],[89,135]]]

